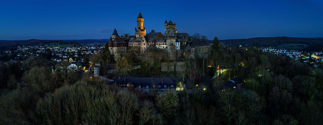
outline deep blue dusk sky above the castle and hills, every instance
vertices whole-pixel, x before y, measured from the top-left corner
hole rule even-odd
[[[108,39],[134,35],[141,9],[147,33],[178,32],[213,39],[323,37],[322,0],[2,0],[0,39]]]

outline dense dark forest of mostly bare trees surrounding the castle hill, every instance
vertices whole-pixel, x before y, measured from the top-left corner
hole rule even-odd
[[[109,56],[103,52],[89,58],[103,64]],[[131,58],[145,64],[139,56]],[[1,62],[0,124],[322,124],[322,64],[315,68],[310,61],[253,47],[219,47],[217,39],[209,55],[185,62],[187,70],[182,72],[163,73],[156,62],[140,69],[143,76],[182,77],[188,86],[161,95],[120,88],[84,72],[53,73],[53,64],[45,57]],[[117,67],[124,64],[115,63]],[[211,79],[219,72],[216,67],[225,71],[211,85],[205,83],[207,90],[193,87]],[[121,75],[133,72],[112,77]],[[242,87],[222,91],[220,84],[235,76],[244,79]]]

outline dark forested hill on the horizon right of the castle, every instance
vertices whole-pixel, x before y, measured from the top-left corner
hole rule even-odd
[[[224,45],[242,47],[277,47],[281,49],[322,51],[323,37],[319,38],[299,38],[299,37],[256,37],[247,39],[227,39],[219,40]]]

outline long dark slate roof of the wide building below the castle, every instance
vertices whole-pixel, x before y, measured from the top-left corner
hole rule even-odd
[[[176,82],[171,78],[140,78],[140,77],[119,77],[112,82],[113,84],[118,84],[123,86],[124,84],[131,84],[133,87],[139,87],[141,89],[176,89]],[[155,88],[153,88],[155,85]],[[159,85],[161,87],[159,87]],[[166,85],[166,87],[164,87]],[[171,87],[173,85],[173,87]]]

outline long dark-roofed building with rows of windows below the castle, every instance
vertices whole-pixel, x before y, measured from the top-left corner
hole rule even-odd
[[[112,84],[120,87],[139,88],[141,91],[163,93],[165,89],[176,91],[176,82],[171,78],[119,77]]]

